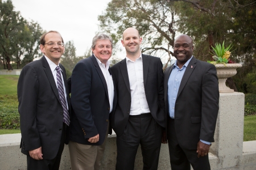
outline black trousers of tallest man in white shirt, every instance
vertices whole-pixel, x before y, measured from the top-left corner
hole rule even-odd
[[[143,169],[158,169],[162,127],[150,113],[130,116],[125,131],[117,137],[117,170],[133,170],[141,144]]]

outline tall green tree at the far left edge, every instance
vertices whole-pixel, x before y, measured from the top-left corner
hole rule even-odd
[[[24,27],[24,19],[19,12],[14,11],[13,3],[10,0],[2,2],[0,0],[0,52],[6,59],[8,70],[13,70],[11,61],[16,52],[16,42],[18,33]]]

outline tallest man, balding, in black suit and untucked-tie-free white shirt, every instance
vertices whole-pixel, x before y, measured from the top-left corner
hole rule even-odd
[[[158,57],[141,53],[142,38],[135,28],[123,32],[126,58],[111,71],[117,89],[112,127],[117,134],[116,169],[134,169],[141,144],[143,169],[158,169],[164,122],[163,65]]]

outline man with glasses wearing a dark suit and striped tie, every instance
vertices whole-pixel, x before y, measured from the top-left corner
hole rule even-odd
[[[59,169],[71,108],[65,68],[59,63],[65,48],[56,31],[44,33],[40,43],[44,56],[24,66],[18,81],[20,147],[27,169]]]

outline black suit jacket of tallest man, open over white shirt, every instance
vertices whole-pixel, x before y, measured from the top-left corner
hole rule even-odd
[[[142,62],[144,90],[150,113],[160,126],[165,127],[163,64],[160,58],[144,54]],[[120,136],[127,124],[132,100],[126,59],[112,66],[110,70],[114,75],[118,95],[117,107],[111,122],[115,133]]]

